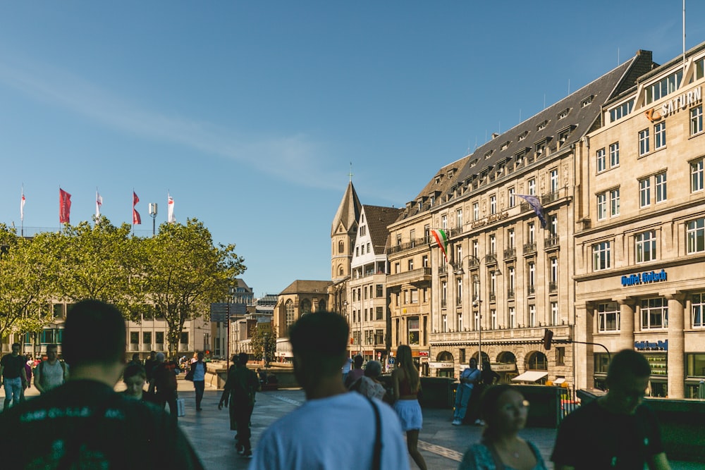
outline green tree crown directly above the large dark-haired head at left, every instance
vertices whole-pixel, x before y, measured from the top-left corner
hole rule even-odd
[[[114,304],[125,317],[140,319],[145,309],[144,260],[137,249],[142,239],[130,235],[131,226],[116,227],[107,218],[90,225],[65,225],[61,233],[47,233],[47,249],[54,254],[57,297],[78,302],[97,299]]]

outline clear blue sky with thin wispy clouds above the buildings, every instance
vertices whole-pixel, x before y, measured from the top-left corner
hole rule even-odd
[[[688,48],[705,2],[687,5]],[[682,53],[682,1],[0,1],[0,222],[114,223],[133,188],[235,243],[255,295],[330,279],[348,184],[402,206],[443,165],[638,49]]]

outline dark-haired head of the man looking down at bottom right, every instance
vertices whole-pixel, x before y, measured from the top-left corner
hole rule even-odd
[[[633,414],[642,403],[649,386],[651,366],[635,350],[615,354],[607,369],[608,397],[615,411]]]

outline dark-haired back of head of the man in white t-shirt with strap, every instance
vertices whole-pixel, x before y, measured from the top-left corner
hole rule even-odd
[[[350,329],[343,316],[328,311],[305,314],[289,328],[294,373],[304,388],[321,378],[341,378]]]

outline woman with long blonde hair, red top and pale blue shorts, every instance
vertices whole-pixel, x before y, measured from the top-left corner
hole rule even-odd
[[[396,354],[396,368],[392,372],[394,385],[394,411],[401,421],[401,428],[406,432],[406,446],[411,458],[426,470],[426,461],[419,452],[419,431],[424,422],[418,395],[421,390],[419,371],[411,359],[411,348],[401,345]]]

